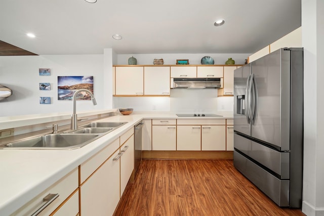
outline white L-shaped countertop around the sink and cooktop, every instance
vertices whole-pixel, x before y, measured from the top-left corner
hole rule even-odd
[[[143,118],[233,118],[178,117],[175,114],[115,115],[97,121],[127,121],[128,123],[92,143],[75,150],[0,150],[0,215],[9,215],[27,201],[46,190],[79,164],[103,149],[107,143],[132,128]],[[17,119],[15,119],[17,121]]]

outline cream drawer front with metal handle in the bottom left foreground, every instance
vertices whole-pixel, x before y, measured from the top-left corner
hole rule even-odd
[[[30,215],[34,213],[39,207],[45,202],[43,198],[48,194],[59,194],[59,196],[49,204],[43,211],[38,215],[50,215],[73,191],[78,187],[78,168],[73,169],[65,177],[57,181],[51,187],[46,189],[44,192],[30,200],[24,206],[19,208],[13,215]]]

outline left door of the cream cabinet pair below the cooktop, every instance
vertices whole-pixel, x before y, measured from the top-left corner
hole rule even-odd
[[[200,125],[177,126],[177,150],[200,151]]]

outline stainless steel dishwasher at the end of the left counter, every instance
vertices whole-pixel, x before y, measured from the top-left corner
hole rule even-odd
[[[134,174],[136,177],[136,173],[138,170],[138,167],[142,160],[142,127],[143,127],[143,121],[136,124],[134,126],[134,139],[135,139],[135,145],[134,145]]]

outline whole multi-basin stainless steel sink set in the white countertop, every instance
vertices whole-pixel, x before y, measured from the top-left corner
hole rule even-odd
[[[0,146],[0,149],[66,149],[81,148],[112,132],[127,122],[90,122],[61,134],[47,134]]]

